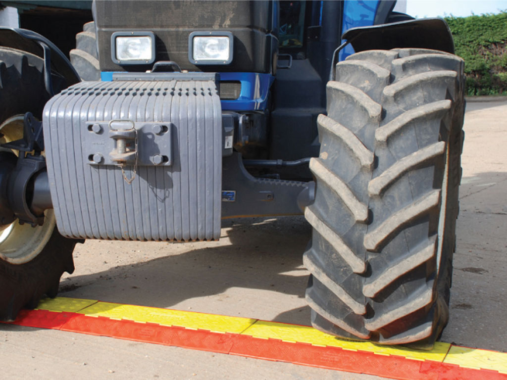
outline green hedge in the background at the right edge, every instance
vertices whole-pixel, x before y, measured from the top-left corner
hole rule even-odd
[[[467,94],[507,95],[507,11],[445,20],[465,60]]]

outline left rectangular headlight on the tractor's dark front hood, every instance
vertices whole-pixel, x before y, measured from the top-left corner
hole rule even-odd
[[[120,65],[150,64],[155,61],[152,32],[115,32],[111,35],[111,58]]]

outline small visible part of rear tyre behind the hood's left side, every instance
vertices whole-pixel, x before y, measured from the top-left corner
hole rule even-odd
[[[76,49],[72,49],[69,55],[81,80],[100,81],[95,22],[83,25],[83,31],[76,34]]]

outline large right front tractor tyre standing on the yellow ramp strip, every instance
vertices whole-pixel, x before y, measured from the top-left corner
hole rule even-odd
[[[424,49],[365,51],[337,64],[310,161],[315,202],[305,210],[317,329],[430,348],[447,324],[463,78],[461,58]]]

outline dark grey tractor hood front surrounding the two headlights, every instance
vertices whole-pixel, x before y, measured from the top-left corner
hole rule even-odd
[[[272,2],[95,0],[93,14],[101,71],[145,71],[153,62],[174,61],[191,71],[270,72],[278,41]],[[221,64],[192,63],[192,32],[230,32],[233,56]],[[115,62],[113,33],[154,35],[154,57],[149,63]],[[112,38],[113,36],[113,38]]]

